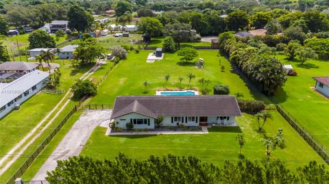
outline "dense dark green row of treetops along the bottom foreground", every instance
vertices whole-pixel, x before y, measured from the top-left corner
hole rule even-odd
[[[131,159],[119,154],[114,160],[71,157],[58,161],[47,172],[49,183],[328,183],[329,172],[323,164],[289,170],[282,161],[225,161],[223,167],[202,162],[196,157],[151,156]]]

